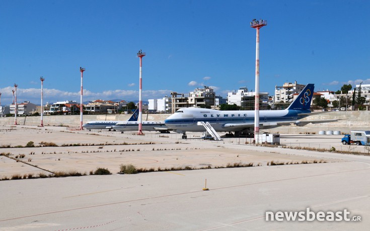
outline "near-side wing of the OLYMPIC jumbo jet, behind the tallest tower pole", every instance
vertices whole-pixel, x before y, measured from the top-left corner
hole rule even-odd
[[[282,126],[282,125],[290,125],[290,124],[295,124],[297,126],[305,126],[309,123],[328,123],[328,122],[336,122],[338,120],[336,119],[327,119],[327,120],[291,120],[291,121],[279,121],[279,122],[267,122],[267,123],[260,123],[261,128],[274,128],[277,126]],[[245,129],[245,128],[250,128],[254,127],[254,123],[226,123],[223,126],[224,128],[238,128],[238,129]]]

